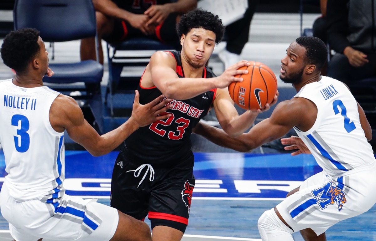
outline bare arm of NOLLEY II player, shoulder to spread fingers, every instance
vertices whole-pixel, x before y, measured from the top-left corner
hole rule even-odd
[[[67,130],[71,139],[82,145],[91,155],[105,155],[119,146],[139,127],[168,118],[170,114],[159,116],[171,107],[171,105],[165,106],[171,100],[163,100],[164,98],[161,95],[152,102],[141,105],[139,93],[136,90],[132,116],[120,127],[100,136],[83,118],[83,113],[76,101],[69,96],[59,95],[50,109],[50,123],[55,131]]]

